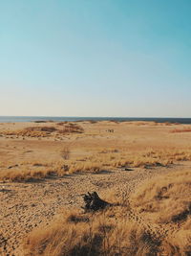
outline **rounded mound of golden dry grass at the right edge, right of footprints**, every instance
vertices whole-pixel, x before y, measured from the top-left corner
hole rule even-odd
[[[177,232],[162,241],[164,255],[190,255],[191,170],[144,183],[133,195],[132,207],[150,223],[174,226]]]

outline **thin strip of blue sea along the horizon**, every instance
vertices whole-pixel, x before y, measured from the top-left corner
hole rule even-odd
[[[191,124],[191,118],[160,118],[160,117],[53,117],[53,116],[0,116],[0,123],[17,123],[17,122],[32,122],[32,121],[108,121],[114,120],[117,122],[125,121],[154,121],[159,123],[180,123]]]

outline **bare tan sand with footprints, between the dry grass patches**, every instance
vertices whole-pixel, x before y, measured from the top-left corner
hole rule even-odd
[[[17,170],[27,162],[59,161],[63,147],[70,147],[71,159],[86,157],[103,149],[119,151],[144,151],[146,149],[171,150],[190,149],[191,132],[173,133],[183,125],[157,125],[149,123],[89,122],[79,123],[83,133],[51,134],[46,137],[6,135],[6,131],[26,127],[54,126],[50,124],[18,123],[0,125],[0,172],[5,169]],[[114,132],[108,131],[114,129]],[[62,207],[81,207],[81,194],[96,191],[104,198],[108,190],[129,197],[141,182],[155,175],[187,169],[190,162],[181,162],[171,167],[132,168],[125,171],[117,168],[100,172],[78,173],[64,177],[52,177],[32,182],[0,182],[0,253],[1,255],[21,255],[22,241],[26,234],[38,225],[49,224]],[[129,218],[138,220],[145,228],[164,235],[175,230],[162,226],[151,226],[131,212]]]

